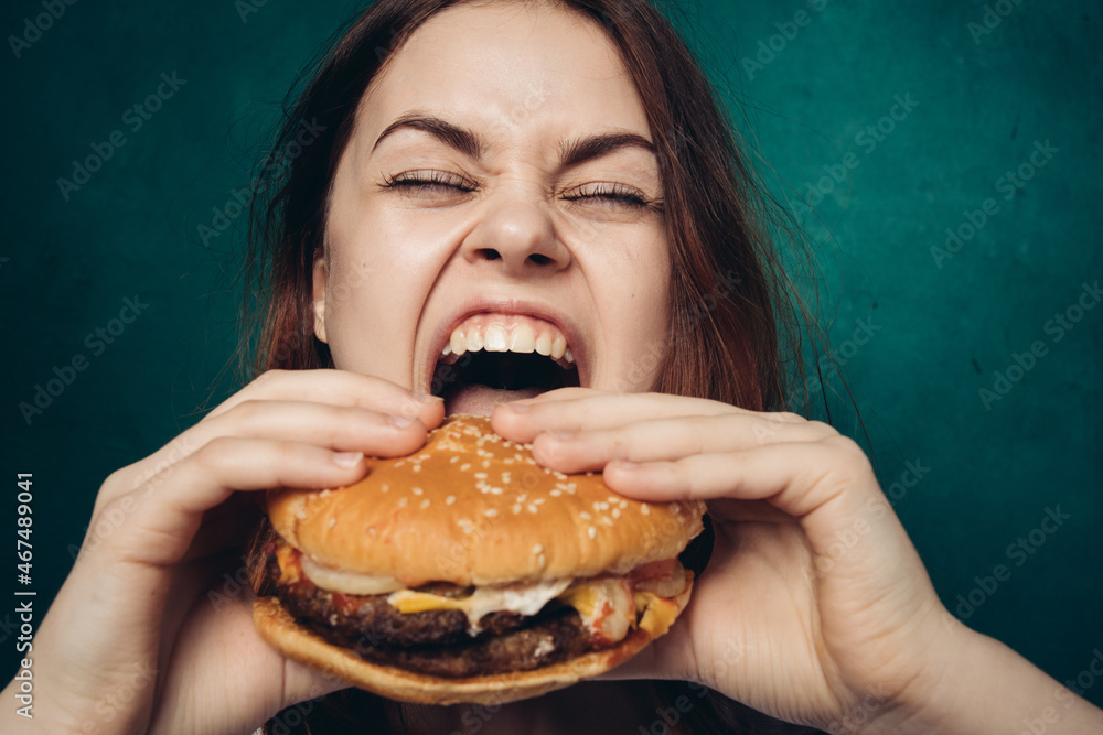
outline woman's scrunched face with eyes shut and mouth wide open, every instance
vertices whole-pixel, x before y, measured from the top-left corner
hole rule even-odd
[[[667,342],[662,196],[643,104],[597,23],[451,8],[360,105],[315,332],[338,368],[443,392],[450,412],[558,385],[647,390]]]

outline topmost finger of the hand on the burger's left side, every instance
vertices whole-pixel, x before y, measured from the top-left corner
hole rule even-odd
[[[204,421],[250,400],[312,401],[358,406],[381,413],[415,417],[430,429],[445,417],[443,401],[416,396],[406,388],[374,376],[347,370],[269,370],[211,411]]]

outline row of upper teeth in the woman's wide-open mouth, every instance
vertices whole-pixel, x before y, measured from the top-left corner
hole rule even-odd
[[[493,317],[491,317],[493,318]],[[550,357],[564,368],[575,365],[575,356],[567,346],[567,338],[555,325],[547,322],[513,316],[502,321],[488,321],[476,314],[452,331],[451,338],[441,350],[446,363],[454,363],[465,353],[539,353]]]

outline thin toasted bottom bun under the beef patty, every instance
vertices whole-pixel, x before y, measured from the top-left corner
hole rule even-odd
[[[679,613],[689,602],[692,587],[689,584],[674,598]],[[421,704],[494,705],[539,696],[604,673],[652,641],[650,634],[636,628],[612,648],[583,653],[561,663],[532,671],[445,679],[365,661],[297,624],[276,597],[257,598],[253,603],[253,619],[265,640],[288,658],[388,699]]]

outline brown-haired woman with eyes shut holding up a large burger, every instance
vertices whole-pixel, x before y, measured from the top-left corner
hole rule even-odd
[[[268,648],[246,595],[207,591],[237,568],[249,490],[354,482],[364,455],[415,451],[449,411],[493,412],[548,466],[603,469],[624,495],[709,500],[693,604],[614,672],[698,684],[682,724],[719,715],[705,685],[831,732],[1103,727],[945,612],[853,442],[777,412],[759,213],[702,75],[647,4],[384,0],[282,142],[303,120],[321,134],[275,162],[259,233],[274,249],[260,366],[290,369],[105,482],[94,520],[122,522],[82,552],[35,637],[39,722],[8,707],[4,732],[246,733],[342,689]],[[445,381],[441,349],[462,328],[474,350],[474,314],[561,333],[579,387]],[[663,732],[665,712],[601,683],[497,712],[367,715],[411,732]]]

